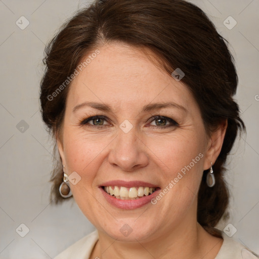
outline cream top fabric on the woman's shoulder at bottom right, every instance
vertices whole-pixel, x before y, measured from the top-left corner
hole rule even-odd
[[[258,255],[222,232],[222,247],[215,259],[258,259]]]

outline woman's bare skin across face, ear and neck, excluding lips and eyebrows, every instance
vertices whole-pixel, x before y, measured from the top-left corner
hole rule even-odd
[[[219,156],[227,123],[208,136],[186,85],[156,66],[141,49],[113,43],[99,50],[70,85],[57,136],[64,171],[68,175],[76,171],[81,177],[76,185],[70,184],[73,197],[98,229],[91,258],[173,258],[172,254],[174,258],[214,258],[223,240],[197,223],[197,193],[203,170]],[[73,112],[75,106],[90,101],[108,104],[112,112],[88,106]],[[145,105],[165,102],[186,111],[167,107],[142,112]],[[80,124],[96,115],[107,117],[98,121],[102,126],[93,120]],[[169,120],[161,125],[153,118],[156,115],[179,125]],[[128,133],[119,127],[126,119],[133,125]],[[163,189],[200,153],[203,157],[155,205],[119,209],[99,189],[111,180],[140,180]],[[124,224],[133,229],[127,237],[120,232]]]

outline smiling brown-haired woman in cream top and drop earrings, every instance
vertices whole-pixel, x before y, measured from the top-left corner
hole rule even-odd
[[[97,229],[56,259],[256,258],[214,228],[245,127],[232,56],[199,8],[97,0],[62,27],[45,64],[42,118],[61,159],[52,194],[73,196]]]

